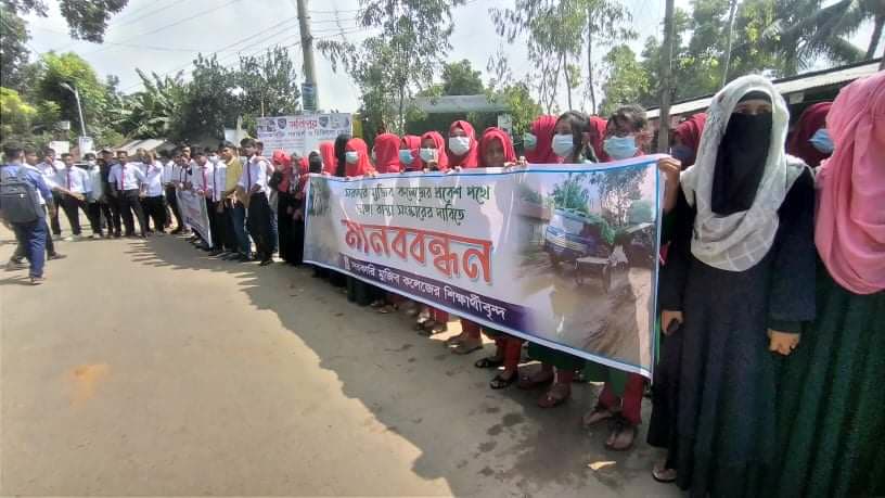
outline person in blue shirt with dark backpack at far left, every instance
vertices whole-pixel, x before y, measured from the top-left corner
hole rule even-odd
[[[33,207],[33,213],[37,216],[36,219],[31,221],[21,221],[21,222],[11,222],[12,229],[15,231],[15,237],[24,247],[25,257],[27,257],[28,261],[30,263],[30,268],[28,270],[28,277],[30,278],[31,285],[39,285],[43,282],[43,250],[46,247],[46,240],[49,238],[46,224],[46,212],[42,207],[40,207],[39,202],[40,200],[52,199],[52,191],[49,189],[49,186],[46,184],[43,181],[42,175],[37,169],[25,168],[22,164],[23,155],[26,154],[30,156],[30,162],[37,162],[37,155],[34,153],[33,150],[24,151],[21,146],[10,144],[3,149],[3,155],[7,158],[8,164],[4,165],[2,169],[0,169],[0,181],[8,182],[15,180],[23,180],[30,184],[30,187],[35,190],[35,195],[37,192],[40,193],[39,197],[35,197],[28,200],[29,202],[35,203]],[[52,203],[48,204],[49,213],[51,214],[55,206]],[[0,217],[4,216],[3,213],[4,206],[0,204]],[[11,209],[11,206],[5,206],[5,209]]]

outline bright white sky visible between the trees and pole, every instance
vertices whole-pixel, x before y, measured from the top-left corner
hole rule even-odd
[[[359,41],[372,34],[356,25],[359,0],[307,1],[315,38],[339,38],[341,29],[349,41]],[[49,17],[25,17],[31,49],[41,53],[76,52],[92,65],[100,78],[112,74],[119,77],[119,89],[126,93],[141,88],[137,67],[159,75],[185,69],[187,75],[198,52],[218,52],[219,62],[235,66],[238,54],[260,54],[274,44],[288,47],[299,39],[295,0],[129,0],[126,8],[110,20],[103,44],[72,39],[57,1],[47,3]],[[502,47],[516,79],[531,71],[525,42],[517,39],[508,44],[495,33],[488,13],[491,8],[506,8],[512,3],[512,0],[467,0],[466,5],[457,8],[448,60],[467,59],[487,80],[489,75],[485,69],[489,56]],[[643,40],[660,30],[664,0],[625,0],[625,3],[633,15],[632,27],[640,35],[632,42],[639,52]],[[689,0],[677,0],[676,4],[688,8]],[[856,38],[868,39],[869,33],[865,27]],[[300,67],[300,47],[293,46],[288,50]],[[602,51],[597,52],[601,58]],[[319,52],[315,60],[321,107],[356,111],[359,90],[354,81],[341,69],[334,73]],[[300,77],[303,73],[298,73]],[[560,107],[565,108],[562,93]]]

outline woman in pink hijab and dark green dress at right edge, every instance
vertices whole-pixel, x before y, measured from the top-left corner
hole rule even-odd
[[[784,361],[778,458],[758,496],[885,496],[885,72],[843,88],[826,128],[818,314]]]

